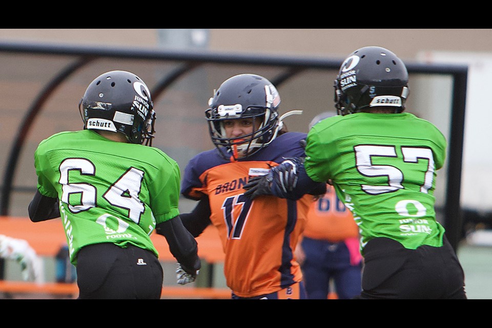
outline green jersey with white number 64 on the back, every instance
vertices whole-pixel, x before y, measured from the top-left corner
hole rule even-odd
[[[158,256],[149,236],[179,215],[180,171],[167,154],[83,130],[40,142],[34,165],[39,192],[60,199],[73,264],[80,248],[103,242]]]

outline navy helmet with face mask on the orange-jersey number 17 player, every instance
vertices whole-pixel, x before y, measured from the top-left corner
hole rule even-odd
[[[278,116],[280,96],[275,86],[266,78],[255,74],[239,74],[224,81],[209,100],[205,115],[209,131],[219,153],[235,160],[241,151],[246,158],[272,142],[283,124]],[[224,129],[225,120],[253,118],[261,122],[251,134],[228,138]],[[253,124],[255,126],[255,124]],[[227,148],[227,154],[221,151]]]

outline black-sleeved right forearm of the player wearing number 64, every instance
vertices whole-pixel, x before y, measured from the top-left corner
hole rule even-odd
[[[166,238],[171,254],[180,263],[181,268],[196,276],[201,267],[198,257],[198,244],[191,233],[183,226],[179,215],[156,225],[156,233]]]

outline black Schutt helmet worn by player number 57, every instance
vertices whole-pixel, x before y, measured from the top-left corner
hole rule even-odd
[[[409,93],[408,72],[393,52],[364,47],[343,61],[334,87],[339,115],[375,106],[394,107],[395,113],[401,113]]]

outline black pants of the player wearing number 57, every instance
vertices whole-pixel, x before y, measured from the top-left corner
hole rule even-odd
[[[409,250],[389,238],[364,248],[362,293],[358,299],[466,299],[464,273],[444,236],[442,247]]]

